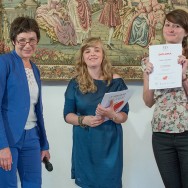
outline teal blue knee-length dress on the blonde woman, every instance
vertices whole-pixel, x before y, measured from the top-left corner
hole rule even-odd
[[[95,80],[98,90],[82,94],[75,79],[65,92],[64,117],[69,113],[95,115],[107,92],[127,89],[123,79]],[[128,114],[128,104],[121,110]],[[73,125],[72,179],[82,188],[122,188],[123,131],[121,124],[108,120],[97,127]]]

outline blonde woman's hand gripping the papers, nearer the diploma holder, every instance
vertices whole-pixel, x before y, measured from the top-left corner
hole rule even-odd
[[[97,109],[96,109],[96,115],[108,117],[109,119],[114,118],[116,115],[116,112],[114,111],[113,101],[110,102],[110,106],[108,108],[104,108],[101,104],[98,104]]]

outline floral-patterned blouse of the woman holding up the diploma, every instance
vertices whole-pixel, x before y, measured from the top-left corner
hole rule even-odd
[[[142,69],[145,65],[142,62]],[[188,100],[183,87],[154,91],[153,132],[181,133],[188,130]]]

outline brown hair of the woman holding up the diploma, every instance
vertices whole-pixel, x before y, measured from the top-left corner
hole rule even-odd
[[[166,19],[172,23],[179,24],[188,35],[188,13],[182,9],[176,9],[166,15]],[[183,55],[188,58],[188,36],[182,41]]]

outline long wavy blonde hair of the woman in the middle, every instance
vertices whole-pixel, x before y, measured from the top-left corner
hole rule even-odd
[[[98,37],[91,37],[86,39],[81,45],[75,65],[76,81],[78,82],[80,91],[84,94],[88,92],[94,93],[97,91],[97,86],[94,83],[94,79],[90,76],[87,65],[84,62],[83,58],[84,51],[89,47],[95,47],[97,44],[101,45],[103,52],[103,60],[101,63],[103,80],[107,81],[107,83],[110,84],[113,78],[112,65],[107,58],[106,51],[101,39]]]

